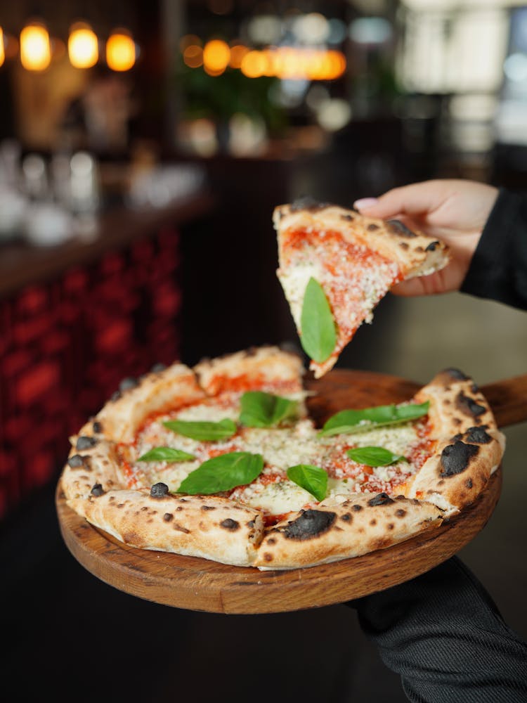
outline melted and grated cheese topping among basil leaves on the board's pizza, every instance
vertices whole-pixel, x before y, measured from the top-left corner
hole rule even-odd
[[[409,456],[412,447],[419,444],[414,424],[379,427],[356,434],[320,437],[311,419],[297,420],[289,427],[240,427],[233,437],[220,441],[197,441],[177,434],[163,422],[175,417],[181,420],[209,420],[224,418],[237,420],[239,394],[223,399],[221,404],[206,401],[158,418],[138,435],[135,446],[129,448],[134,480],[145,486],[163,482],[169,491],[176,492],[190,472],[201,463],[230,451],[247,451],[261,454],[264,469],[261,477],[248,486],[238,486],[230,494],[235,500],[257,508],[270,515],[300,510],[317,501],[308,491],[287,479],[287,469],[298,464],[322,467],[328,473],[327,498],[346,496],[361,491],[387,491],[403,484],[415,472],[411,462],[399,461],[389,466],[365,467],[346,454],[351,447],[382,446],[395,454]],[[138,462],[156,446],[169,446],[195,455],[194,460],[183,462]]]

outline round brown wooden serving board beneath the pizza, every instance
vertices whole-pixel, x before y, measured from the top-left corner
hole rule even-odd
[[[418,384],[390,375],[333,370],[306,382],[318,423],[344,408],[408,400]],[[273,613],[334,605],[408,581],[447,560],[483,529],[500,498],[501,468],[479,499],[441,527],[387,549],[308,569],[259,571],[197,557],[126,546],[91,526],[66,503],[56,507],[72,555],[89,572],[120,591],[163,605],[215,613]]]

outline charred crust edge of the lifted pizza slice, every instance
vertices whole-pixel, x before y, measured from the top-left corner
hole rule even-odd
[[[401,267],[403,278],[428,275],[442,269],[450,260],[448,248],[436,238],[411,231],[398,220],[365,217],[355,210],[337,205],[278,205],[273,211],[273,224],[278,233],[306,227],[340,232],[346,241],[366,245],[396,261]],[[287,264],[280,238],[278,259],[280,267]]]

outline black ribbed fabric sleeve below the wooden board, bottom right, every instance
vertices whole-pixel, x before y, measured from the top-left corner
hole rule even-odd
[[[410,701],[527,702],[527,643],[457,557],[347,605]]]

